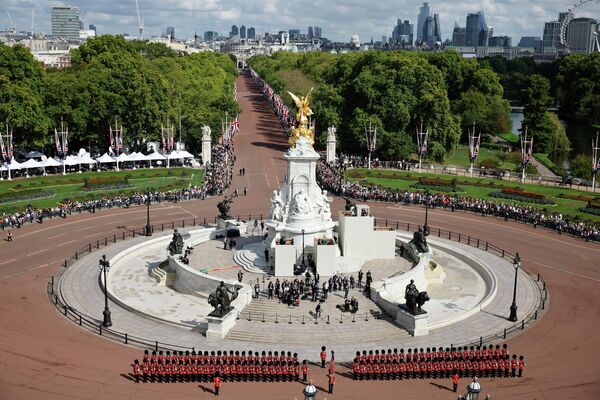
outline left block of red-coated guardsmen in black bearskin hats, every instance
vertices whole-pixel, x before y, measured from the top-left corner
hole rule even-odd
[[[167,351],[163,355],[144,351],[142,362],[133,364],[135,382],[212,382],[219,376],[223,381],[237,382],[306,382],[308,362],[300,363],[297,353],[258,351]],[[302,377],[300,374],[302,373]]]

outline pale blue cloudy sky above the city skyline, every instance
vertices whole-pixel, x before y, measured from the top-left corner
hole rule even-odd
[[[353,33],[361,41],[381,40],[391,36],[397,19],[408,19],[417,25],[422,1],[383,0],[138,0],[144,20],[144,37],[160,35],[174,26],[177,37],[191,38],[194,31],[217,31],[227,34],[231,25],[254,26],[256,33],[320,26],[323,36],[335,41],[349,41]],[[483,11],[494,35],[512,36],[517,44],[521,36],[542,36],[544,22],[558,19],[579,0],[480,0],[430,1],[431,13],[440,15],[442,36],[452,37],[454,23],[465,25],[467,13]],[[36,32],[51,33],[50,9],[55,5],[79,7],[85,26],[94,24],[98,34],[129,33],[137,35],[138,20],[135,0],[0,0],[0,28],[11,26],[8,13],[17,30],[29,31],[32,9],[35,9]],[[8,13],[7,13],[8,11]],[[590,2],[577,12],[578,17],[600,20],[600,0]],[[415,35],[416,36],[416,35]]]

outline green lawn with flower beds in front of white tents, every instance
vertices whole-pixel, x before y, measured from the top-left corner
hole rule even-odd
[[[82,190],[84,178],[127,177],[131,187],[124,189]],[[82,174],[52,175],[33,178],[19,178],[0,182],[0,193],[19,193],[26,189],[44,189],[52,191],[50,197],[32,200],[5,202],[0,204],[0,212],[22,211],[26,206],[54,207],[65,199],[96,199],[111,194],[152,190],[172,190],[188,186],[201,186],[204,182],[204,170],[189,168],[157,168],[110,172],[85,172]]]

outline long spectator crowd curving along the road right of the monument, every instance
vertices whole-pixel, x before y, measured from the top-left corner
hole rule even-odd
[[[317,179],[321,187],[342,197],[361,201],[386,201],[403,205],[425,205],[427,196],[423,192],[393,190],[376,185],[362,185],[350,182],[343,176],[337,164],[317,163]],[[515,220],[534,227],[553,229],[558,234],[568,233],[585,240],[600,241],[600,228],[584,222],[569,220],[561,213],[551,213],[535,207],[503,202],[452,196],[445,193],[429,195],[430,207],[451,211],[461,210],[478,213],[482,216],[495,216],[505,220]]]

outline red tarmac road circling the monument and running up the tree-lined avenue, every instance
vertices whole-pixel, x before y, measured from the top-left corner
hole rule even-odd
[[[254,89],[238,79],[242,133],[237,135],[232,189],[234,214],[265,214],[270,193],[286,174],[287,141],[279,123]],[[237,170],[246,168],[245,176]],[[152,207],[152,223],[213,219],[218,199]],[[335,202],[340,208],[341,201]],[[423,210],[372,203],[378,218],[420,223]],[[102,210],[14,230],[14,242],[0,243],[0,399],[164,399],[212,397],[207,384],[141,384],[127,378],[141,350],[106,340],[67,321],[49,303],[46,285],[61,262],[89,242],[145,225],[145,209]],[[544,317],[508,340],[526,357],[522,379],[482,379],[493,398],[600,399],[600,246],[543,229],[473,214],[433,210],[430,225],[461,232],[519,251],[525,268],[540,273],[550,291]],[[3,234],[3,239],[6,237]],[[100,255],[100,253],[99,253]],[[507,315],[509,304],[506,305]],[[98,304],[101,317],[102,304]],[[148,333],[151,337],[151,332]],[[436,345],[432,343],[432,345]],[[402,347],[402,346],[398,346]],[[358,350],[358,349],[357,349]],[[319,349],[315,348],[315,353]],[[323,394],[326,375],[311,368],[319,398],[455,399],[450,380],[353,382],[338,367],[334,395]],[[460,387],[468,382],[463,380]],[[302,398],[296,383],[224,383],[224,399]],[[373,396],[375,395],[375,397]]]

